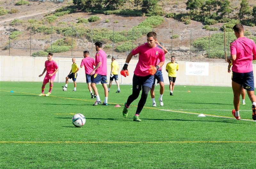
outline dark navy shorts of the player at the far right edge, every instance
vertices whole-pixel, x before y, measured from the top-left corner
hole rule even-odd
[[[253,71],[247,73],[232,72],[232,81],[242,85],[244,89],[254,91]]]

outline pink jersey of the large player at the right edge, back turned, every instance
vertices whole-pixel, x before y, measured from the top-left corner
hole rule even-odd
[[[232,61],[233,72],[246,73],[253,70],[252,58],[256,56],[256,45],[252,39],[242,37],[231,42],[230,54],[236,54],[236,60]]]

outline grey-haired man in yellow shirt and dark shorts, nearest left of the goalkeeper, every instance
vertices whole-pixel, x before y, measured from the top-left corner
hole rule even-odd
[[[118,63],[116,61],[116,57],[112,56],[111,58],[112,62],[111,62],[111,72],[110,72],[110,80],[109,80],[109,84],[108,84],[108,92],[110,90],[110,87],[112,85],[113,80],[115,79],[116,81],[116,85],[117,85],[117,91],[116,93],[120,93],[120,88],[119,88],[119,83],[118,83]]]

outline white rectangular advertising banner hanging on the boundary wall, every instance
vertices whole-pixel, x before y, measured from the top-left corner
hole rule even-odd
[[[186,62],[186,75],[208,76],[209,63]]]

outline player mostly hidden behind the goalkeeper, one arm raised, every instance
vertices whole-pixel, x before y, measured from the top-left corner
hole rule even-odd
[[[164,54],[168,53],[167,49],[165,49],[163,46],[160,45],[160,43],[158,41],[156,41],[156,44],[158,45],[159,48],[162,48],[164,50]],[[160,62],[159,58],[156,61],[156,65],[158,65]],[[151,99],[152,99],[152,106],[156,107],[156,101],[155,101],[155,82],[157,80],[157,83],[159,83],[160,85],[160,95],[159,95],[159,102],[160,102],[160,106],[164,106],[164,102],[163,102],[163,94],[164,94],[164,78],[163,78],[163,74],[162,74],[162,67],[160,67],[157,71],[156,74],[154,75],[154,81],[153,81],[153,85],[152,88],[150,89],[150,95],[151,95]]]

